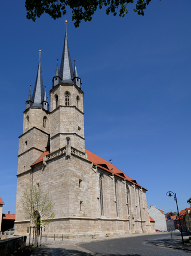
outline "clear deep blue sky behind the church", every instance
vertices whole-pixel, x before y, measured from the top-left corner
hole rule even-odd
[[[44,86],[52,88],[65,25],[70,56],[82,80],[85,147],[146,188],[147,204],[180,210],[190,194],[190,0],[152,0],[144,17],[98,10],[75,28],[59,20],[26,19],[23,1],[1,4],[1,167],[3,212],[15,213],[19,135],[35,85],[41,49]],[[48,94],[48,100],[50,100]]]

